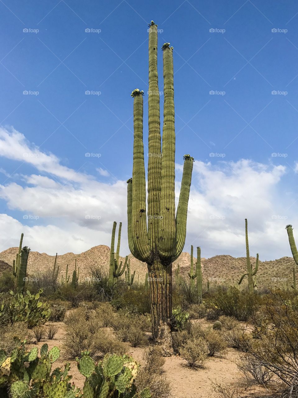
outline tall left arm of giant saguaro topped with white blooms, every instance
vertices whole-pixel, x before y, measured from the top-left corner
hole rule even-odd
[[[138,259],[151,262],[146,221],[146,180],[143,144],[143,92],[136,89],[134,97],[134,147],[132,166],[132,239]]]

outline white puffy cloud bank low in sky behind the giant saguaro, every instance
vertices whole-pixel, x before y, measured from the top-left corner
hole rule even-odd
[[[32,156],[23,156],[24,153]],[[11,181],[0,185],[0,198],[10,211],[10,215],[0,217],[0,251],[17,246],[20,232],[25,232],[32,250],[49,254],[78,253],[98,244],[109,245],[116,220],[123,222],[121,254],[129,252],[125,181],[102,183],[76,173],[63,166],[54,154],[41,152],[14,129],[0,130],[0,156],[30,163],[38,171],[23,176],[22,185]],[[176,165],[177,200],[182,169],[182,164]],[[109,176],[106,170],[97,171]],[[289,222],[298,224],[298,218],[294,206],[285,211],[281,205],[280,183],[285,173],[284,166],[245,159],[196,161],[184,250],[189,251],[193,244],[201,246],[203,257],[245,256],[247,218],[251,255],[259,252],[261,260],[290,256],[284,226]],[[17,220],[19,211],[27,218]]]

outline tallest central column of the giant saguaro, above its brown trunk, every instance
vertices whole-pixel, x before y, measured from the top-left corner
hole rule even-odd
[[[160,135],[160,95],[157,72],[157,25],[149,29],[149,91],[148,91],[148,237],[151,248],[157,250],[160,222],[160,190],[162,173]],[[156,217],[157,216],[157,217]]]

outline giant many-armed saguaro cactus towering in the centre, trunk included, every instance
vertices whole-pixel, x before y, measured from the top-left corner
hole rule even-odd
[[[187,205],[193,158],[184,156],[183,177],[175,211],[175,110],[173,47],[162,46],[164,63],[164,125],[160,133],[160,96],[157,72],[157,25],[149,25],[148,90],[148,224],[143,144],[143,92],[134,98],[134,145],[132,179],[127,181],[128,240],[130,252],[148,265],[152,334],[164,355],[173,353],[171,339],[172,262],[185,243]]]

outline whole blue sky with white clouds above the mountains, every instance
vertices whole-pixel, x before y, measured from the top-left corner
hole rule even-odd
[[[23,230],[32,250],[81,252],[109,244],[113,220],[126,226],[130,93],[145,92],[146,144],[154,20],[159,47],[174,47],[177,196],[183,154],[196,160],[185,251],[242,256],[247,217],[251,254],[290,255],[296,2],[10,0],[0,11],[0,251]],[[123,234],[122,254],[126,242]]]

